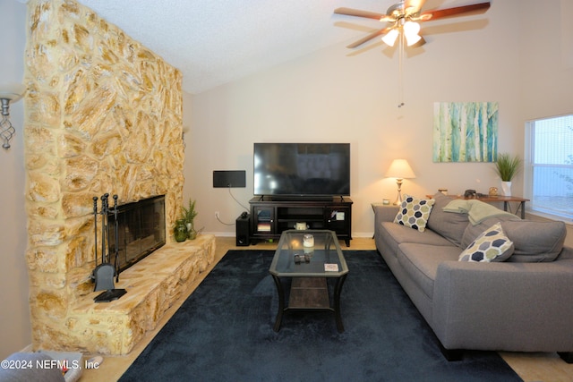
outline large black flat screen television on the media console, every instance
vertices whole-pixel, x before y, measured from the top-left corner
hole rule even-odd
[[[255,143],[253,162],[255,195],[350,195],[349,143]]]

